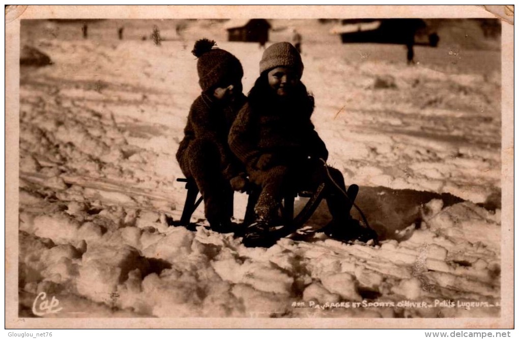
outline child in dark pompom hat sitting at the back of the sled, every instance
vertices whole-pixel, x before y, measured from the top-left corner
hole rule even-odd
[[[191,105],[176,159],[186,178],[196,182],[211,229],[226,233],[234,231],[233,189],[242,191],[247,184],[243,166],[227,143],[230,126],[246,98],[240,61],[214,45],[201,39],[193,49],[202,93]]]

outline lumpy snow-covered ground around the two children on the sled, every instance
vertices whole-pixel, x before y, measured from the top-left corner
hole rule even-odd
[[[53,64],[20,74],[21,317],[40,292],[62,307],[45,317],[500,315],[499,51],[416,47],[407,66],[402,46],[342,45],[317,21],[299,23],[315,32],[303,43],[313,123],[383,241],[318,233],[251,249],[168,227],[165,215],[179,218],[185,197],[174,154],[199,93],[195,39],[220,32],[245,92],[262,50],[225,42],[223,23],[189,22],[186,40],[161,46],[116,40],[115,29],[95,38],[103,24],[90,39],[58,39],[49,32],[79,26],[22,23],[22,46]],[[236,218],[245,203],[236,194]],[[329,219],[321,206],[308,227]]]

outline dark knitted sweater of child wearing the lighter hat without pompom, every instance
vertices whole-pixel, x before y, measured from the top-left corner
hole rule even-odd
[[[310,120],[311,113],[279,105],[253,110],[246,103],[229,132],[229,146],[252,169],[266,153],[274,155],[279,165],[297,164],[308,156],[326,160],[328,151]]]

